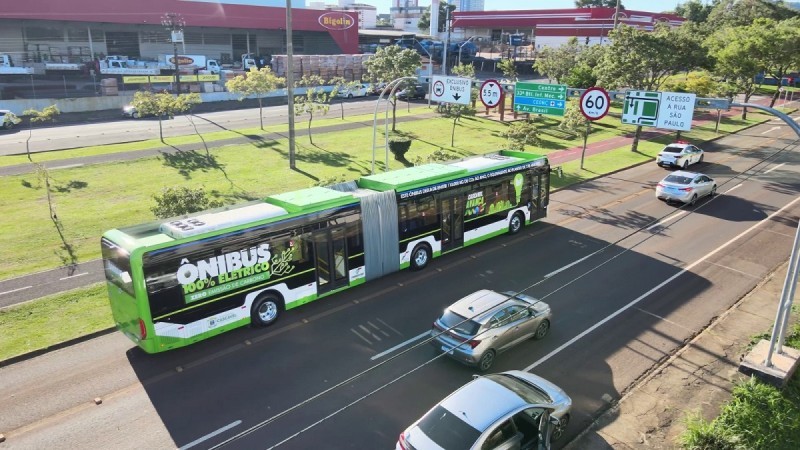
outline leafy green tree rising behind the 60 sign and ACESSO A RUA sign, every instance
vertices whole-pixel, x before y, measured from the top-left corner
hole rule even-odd
[[[705,64],[707,52],[700,42],[677,30],[659,24],[652,32],[626,25],[611,31],[611,45],[595,68],[598,84],[655,91],[670,75]],[[641,132],[637,126],[631,151],[637,150]]]

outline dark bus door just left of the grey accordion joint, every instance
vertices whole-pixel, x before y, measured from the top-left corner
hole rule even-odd
[[[344,229],[322,230],[314,235],[313,241],[317,294],[347,286],[350,280]]]

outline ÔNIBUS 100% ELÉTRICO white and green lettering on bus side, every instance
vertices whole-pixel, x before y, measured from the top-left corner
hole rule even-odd
[[[271,257],[264,243],[194,262],[183,258],[175,275],[190,303],[268,280]]]

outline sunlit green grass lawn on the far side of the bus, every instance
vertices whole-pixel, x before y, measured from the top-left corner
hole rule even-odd
[[[590,142],[633,131],[633,127],[619,124],[618,109],[612,113],[613,116],[593,125],[596,131],[590,135]],[[710,123],[684,133],[684,138],[701,143],[768,118],[758,113],[749,114],[746,121],[725,118],[719,135],[714,133],[714,124]],[[323,121],[319,122],[321,125]],[[398,124],[399,132],[415,139],[407,159],[424,158],[440,150],[458,158],[507,145],[503,133],[508,125],[478,116],[462,118],[456,124],[455,142],[451,146],[452,123],[452,119],[435,117]],[[547,132],[558,121],[544,118],[539,123]],[[304,123],[298,126],[304,126]],[[540,148],[528,151],[547,154],[582,144],[578,137],[571,140],[549,134],[543,137],[545,141]],[[665,143],[672,140],[674,133],[652,142],[640,142],[637,152],[631,152],[625,146],[587,157],[584,170],[579,169],[578,161],[567,163],[563,166],[564,177],[552,178],[553,188],[650,161]],[[157,141],[152,143],[157,144]],[[368,174],[373,164],[372,130],[367,128],[319,133],[314,136],[313,144],[307,137],[298,138],[296,147],[296,171],[286,169],[288,146],[285,140],[228,145],[213,148],[208,154],[203,151],[183,152],[54,170],[50,173],[50,183],[55,220],[50,215],[47,192],[39,174],[0,177],[0,191],[5,194],[0,199],[4,213],[0,220],[0,248],[3,249],[0,278],[99,257],[99,238],[105,230],[154,219],[150,212],[154,205],[152,196],[164,186],[203,186],[215,197],[235,203],[308,187],[318,180],[355,179]],[[113,152],[117,148],[104,146],[92,151]],[[384,158],[382,152],[376,154],[376,171],[384,169]],[[390,169],[407,164],[389,158]],[[74,320],[64,321],[64,318]],[[78,323],[80,326],[75,326]],[[0,336],[0,360],[47,348],[111,324],[105,288],[101,285],[0,309],[0,328],[14,330]],[[43,329],[48,331],[43,333]]]

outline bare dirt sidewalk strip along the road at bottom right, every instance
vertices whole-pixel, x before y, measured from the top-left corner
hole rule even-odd
[[[731,309],[654,367],[578,437],[568,450],[672,449],[684,419],[699,413],[711,420],[730,399],[753,336],[768,332],[783,289],[788,262],[779,266]]]

